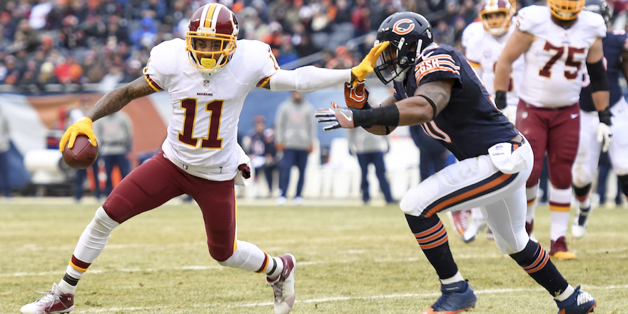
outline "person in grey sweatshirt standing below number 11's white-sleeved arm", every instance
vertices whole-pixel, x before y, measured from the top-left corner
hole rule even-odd
[[[302,93],[293,91],[292,95],[280,103],[275,116],[275,147],[283,152],[279,161],[279,188],[281,196],[277,204],[282,206],[286,202],[286,193],[290,183],[290,171],[293,166],[299,169],[299,180],[294,204],[303,203],[301,192],[305,182],[305,166],[308,164],[308,155],[312,152],[316,140],[316,121],[314,106],[308,102]]]

